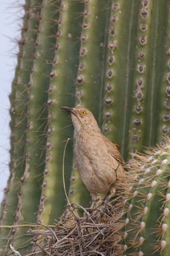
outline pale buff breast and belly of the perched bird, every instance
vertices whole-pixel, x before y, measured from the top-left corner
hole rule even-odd
[[[86,134],[79,135],[75,143],[76,165],[80,171],[81,179],[92,193],[105,193],[110,184],[115,182],[114,159],[111,157],[102,138]]]

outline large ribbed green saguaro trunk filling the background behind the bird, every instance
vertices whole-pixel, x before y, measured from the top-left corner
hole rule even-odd
[[[169,0],[25,1],[1,225],[53,224],[64,211],[62,159],[73,127],[60,106],[89,108],[103,133],[120,144],[125,160],[129,152],[169,135],[169,5]],[[71,140],[66,192],[72,202],[87,205],[89,193],[73,158]],[[0,236],[12,239],[25,231],[1,228]],[[15,239],[15,246],[22,242]],[[6,240],[0,243],[6,246]]]

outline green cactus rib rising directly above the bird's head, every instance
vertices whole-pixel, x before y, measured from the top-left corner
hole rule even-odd
[[[85,1],[81,48],[76,79],[77,104],[89,108],[101,121],[104,54],[109,24],[110,1]]]

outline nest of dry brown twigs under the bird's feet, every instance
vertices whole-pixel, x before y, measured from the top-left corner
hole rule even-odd
[[[43,226],[39,230],[31,230],[31,234],[36,235],[32,255],[122,255],[122,207],[122,195],[103,202],[96,209],[67,205],[55,230]],[[81,217],[78,214],[80,210],[83,211]]]

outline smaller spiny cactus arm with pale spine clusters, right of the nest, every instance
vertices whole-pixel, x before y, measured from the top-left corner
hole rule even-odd
[[[169,141],[131,163],[124,255],[169,255]]]

